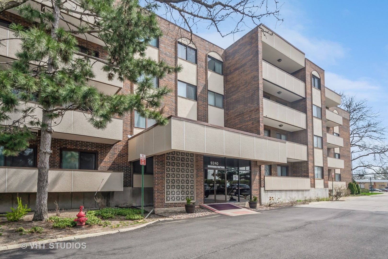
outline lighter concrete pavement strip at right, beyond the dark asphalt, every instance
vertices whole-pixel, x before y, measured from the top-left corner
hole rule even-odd
[[[370,196],[352,196],[333,202],[312,202],[296,207],[388,212],[388,193]]]

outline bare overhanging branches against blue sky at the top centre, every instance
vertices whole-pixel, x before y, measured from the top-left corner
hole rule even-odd
[[[0,12],[25,2],[27,0],[0,0]],[[198,23],[205,23],[208,29],[215,28],[222,37],[225,37],[243,31],[244,26],[259,25],[263,17],[272,16],[279,22],[283,21],[279,18],[282,4],[277,0],[142,0],[139,2],[148,7],[161,4],[161,16],[191,33],[194,28],[197,28]],[[225,25],[226,30],[221,28],[222,24]]]

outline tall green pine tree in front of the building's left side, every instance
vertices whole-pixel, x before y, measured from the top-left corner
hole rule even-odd
[[[163,78],[166,73],[181,69],[145,57],[149,42],[161,36],[157,17],[152,12],[155,6],[143,8],[137,0],[117,3],[81,0],[76,8],[69,7],[66,1],[52,3],[52,7],[42,10],[29,4],[17,7],[19,14],[32,25],[9,26],[14,37],[21,39],[21,49],[17,53],[18,60],[10,62],[8,69],[0,69],[0,121],[9,119],[12,113],[22,114],[11,125],[0,128],[3,155],[17,155],[28,148],[34,137],[33,130],[41,132],[34,221],[47,218],[53,122],[60,121],[68,111],[84,110],[92,115],[89,123],[104,129],[112,116],[123,116],[136,109],[141,116],[165,125],[167,120],[161,115],[160,106],[163,96],[170,90],[167,87],[154,89],[152,77]],[[69,12],[80,17],[77,23],[67,19]],[[81,53],[77,47],[79,35],[104,42],[107,57],[100,59],[93,53]],[[94,77],[92,64],[95,61],[104,64],[99,73],[106,73],[109,79],[116,77],[136,82],[137,89],[131,94],[109,96],[88,85],[88,80]],[[143,79],[138,81],[137,78]],[[28,103],[32,99],[36,101],[33,105]]]

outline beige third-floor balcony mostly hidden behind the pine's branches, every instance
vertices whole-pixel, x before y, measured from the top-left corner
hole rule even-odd
[[[11,30],[5,27],[0,27],[0,37],[2,39],[13,38],[13,33]],[[3,40],[3,45],[0,45],[0,61],[1,62],[10,62],[16,59],[16,52],[19,49],[21,40]],[[80,56],[79,56],[80,57]],[[3,67],[7,64],[2,64]],[[114,78],[112,81],[108,80],[107,73],[102,71],[101,62],[95,62],[92,66],[95,77],[90,79],[88,84],[96,87],[98,90],[104,94],[111,95],[115,94],[123,87],[123,83]]]

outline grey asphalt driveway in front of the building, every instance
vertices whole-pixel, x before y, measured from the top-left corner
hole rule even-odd
[[[376,208],[388,202],[388,195],[361,198]],[[336,203],[348,208],[347,202]],[[314,206],[162,221],[73,241],[86,249],[28,247],[1,251],[0,258],[386,258],[388,213]]]

